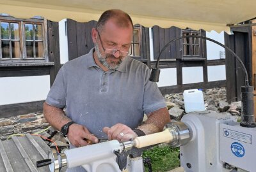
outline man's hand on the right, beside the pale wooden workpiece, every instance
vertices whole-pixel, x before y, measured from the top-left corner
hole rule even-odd
[[[103,131],[108,135],[108,140],[128,141],[138,137],[130,127],[124,124],[115,124],[111,128],[104,127]]]

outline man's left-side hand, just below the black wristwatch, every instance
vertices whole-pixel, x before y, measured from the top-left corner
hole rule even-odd
[[[86,127],[79,124],[72,124],[68,128],[68,140],[75,147],[83,147],[91,143],[98,143],[97,137],[93,136]]]

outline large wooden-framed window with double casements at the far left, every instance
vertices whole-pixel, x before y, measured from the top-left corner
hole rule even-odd
[[[47,62],[46,20],[0,16],[0,64]]]

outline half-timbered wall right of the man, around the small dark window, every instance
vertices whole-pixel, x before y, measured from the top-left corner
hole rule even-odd
[[[223,33],[205,31],[198,31],[198,33],[224,43]],[[155,67],[156,59],[164,45],[179,36],[182,36],[182,29],[177,27],[169,29],[152,27],[151,68]],[[163,52],[159,63],[161,74],[159,83],[157,83],[163,94],[182,92],[185,89],[225,87],[225,51],[220,47],[214,47],[209,41],[200,40],[199,44],[200,55],[197,57],[191,55],[191,57],[184,58],[182,39],[173,42]],[[209,54],[207,48],[210,50]],[[220,58],[220,52],[224,54],[224,57],[222,55]]]

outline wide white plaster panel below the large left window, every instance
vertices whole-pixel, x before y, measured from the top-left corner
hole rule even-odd
[[[50,76],[0,78],[0,105],[42,101],[50,90]]]

